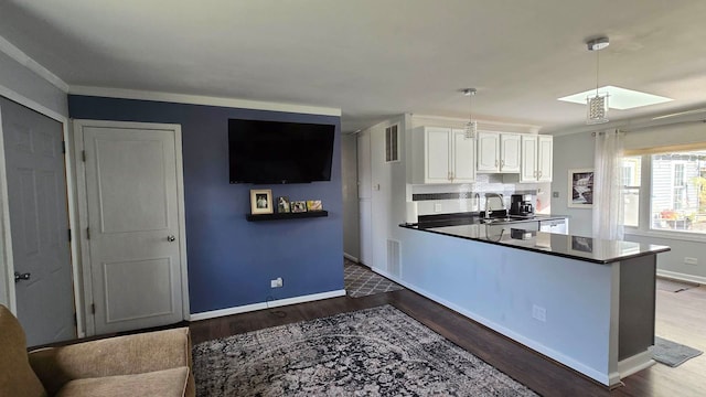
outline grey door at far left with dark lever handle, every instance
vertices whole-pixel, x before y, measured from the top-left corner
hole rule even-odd
[[[63,126],[0,97],[17,315],[28,345],[76,337]]]

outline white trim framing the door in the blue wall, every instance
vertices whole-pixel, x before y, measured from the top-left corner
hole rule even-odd
[[[179,233],[182,236],[180,239],[180,257],[181,257],[181,292],[182,292],[182,307],[183,307],[183,320],[189,320],[189,277],[188,277],[188,259],[186,259],[186,225],[184,216],[184,170],[182,160],[182,143],[181,143],[181,125],[174,124],[156,124],[156,122],[132,122],[132,121],[107,121],[107,120],[74,120],[74,147],[76,153],[82,153],[84,150],[84,128],[85,127],[104,127],[104,128],[139,128],[139,129],[160,129],[160,130],[173,130],[174,131],[174,146],[175,146],[175,161],[176,161],[176,211],[179,216]],[[78,198],[78,233],[76,238],[81,240],[82,247],[82,262],[83,266],[83,293],[86,304],[84,307],[84,313],[86,315],[86,332],[88,335],[96,333],[96,325],[94,322],[94,315],[90,304],[93,299],[93,278],[90,275],[90,245],[86,238],[86,228],[88,227],[88,201],[86,192],[86,163],[76,160],[76,186]]]

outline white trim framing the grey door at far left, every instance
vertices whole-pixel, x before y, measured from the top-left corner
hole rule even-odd
[[[72,170],[74,169],[74,155],[71,150],[71,140],[69,140],[69,128],[68,128],[68,118],[65,116],[30,99],[23,95],[20,95],[12,89],[9,89],[2,85],[0,85],[0,96],[3,96],[10,100],[13,100],[29,109],[32,109],[40,115],[46,116],[51,119],[54,119],[62,124],[63,139],[66,146],[66,155],[64,158],[64,172],[66,175],[66,198],[68,202],[68,227],[72,232],[76,230],[76,197],[75,197],[75,187],[76,183],[74,181],[74,174]],[[2,133],[2,119],[0,118],[0,133]],[[9,303],[10,310],[12,313],[17,315],[17,297],[14,291],[14,262],[12,260],[12,236],[10,233],[10,206],[8,204],[8,174],[6,170],[6,158],[4,158],[4,143],[1,142],[0,139],[0,227],[2,229],[2,238],[3,244],[0,249],[2,250],[0,258],[6,264],[4,268],[7,269],[4,273],[4,280],[0,277],[0,282],[4,282],[6,285],[6,293],[7,301]],[[76,333],[78,337],[84,337],[84,316],[81,312],[79,308],[83,307],[82,296],[79,293],[81,286],[81,273],[79,273],[79,257],[78,257],[78,240],[76,238],[72,238],[69,243],[71,248],[71,268],[72,268],[72,277],[74,282],[74,310],[76,311]]]

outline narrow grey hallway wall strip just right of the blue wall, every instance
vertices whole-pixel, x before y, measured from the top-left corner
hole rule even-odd
[[[357,140],[343,135],[341,140],[341,179],[343,182],[343,253],[360,258],[360,222],[357,208]]]

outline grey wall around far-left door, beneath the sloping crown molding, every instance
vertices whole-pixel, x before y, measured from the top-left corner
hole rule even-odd
[[[30,71],[6,52],[28,64],[33,62],[0,36],[0,95],[40,112],[50,114],[54,118],[57,116],[67,118],[66,93]],[[0,181],[0,183],[3,182]],[[4,197],[0,197],[0,208],[7,205],[2,198]],[[13,282],[13,279],[6,261],[6,233],[9,230],[3,227],[2,217],[3,215],[0,213],[0,304],[9,305],[10,282]]]

